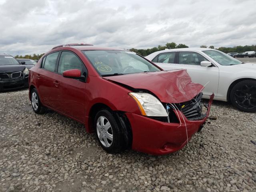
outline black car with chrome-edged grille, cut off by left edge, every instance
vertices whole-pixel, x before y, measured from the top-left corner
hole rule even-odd
[[[22,64],[13,56],[0,53],[0,91],[28,87],[29,71]]]

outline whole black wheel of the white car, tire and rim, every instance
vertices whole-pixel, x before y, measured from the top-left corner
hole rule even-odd
[[[256,112],[256,80],[238,82],[230,92],[235,108],[244,112]]]

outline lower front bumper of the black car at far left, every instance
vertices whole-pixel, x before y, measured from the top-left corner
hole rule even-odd
[[[28,87],[28,76],[21,76],[14,80],[0,80],[0,91],[9,91]]]

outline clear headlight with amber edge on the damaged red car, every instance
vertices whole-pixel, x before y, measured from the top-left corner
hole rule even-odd
[[[162,103],[153,95],[148,93],[129,93],[137,102],[142,115],[167,117],[168,114]]]

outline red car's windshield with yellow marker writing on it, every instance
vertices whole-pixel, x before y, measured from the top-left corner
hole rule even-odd
[[[82,51],[101,76],[160,71],[159,68],[130,51]]]

